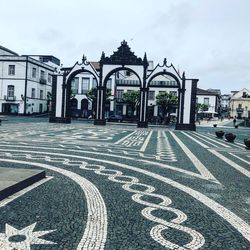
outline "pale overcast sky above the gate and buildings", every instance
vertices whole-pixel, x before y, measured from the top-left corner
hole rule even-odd
[[[250,0],[1,0],[0,45],[72,66],[120,42],[164,57],[199,87],[250,89]]]

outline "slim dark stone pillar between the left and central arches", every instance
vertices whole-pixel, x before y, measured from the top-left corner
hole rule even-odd
[[[97,86],[96,94],[96,119],[94,120],[94,125],[106,125],[105,120],[105,100],[106,100],[106,87]]]

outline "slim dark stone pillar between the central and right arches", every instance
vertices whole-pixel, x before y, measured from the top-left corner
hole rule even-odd
[[[139,121],[137,122],[138,128],[148,127],[147,110],[148,110],[148,88],[144,87],[140,89],[140,113],[139,113]]]

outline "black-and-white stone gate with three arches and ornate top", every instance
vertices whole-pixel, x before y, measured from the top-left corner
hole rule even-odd
[[[175,67],[167,65],[164,59],[163,64],[158,64],[153,71],[148,71],[148,60],[146,53],[141,59],[134,55],[126,41],[110,57],[102,53],[99,61],[100,70],[87,62],[83,56],[82,63],[76,62],[73,67],[61,68],[53,75],[52,80],[52,110],[50,122],[70,123],[70,98],[71,81],[81,72],[88,72],[94,76],[97,82],[97,110],[95,125],[106,125],[104,117],[104,105],[106,95],[106,84],[109,77],[119,70],[129,70],[133,72],[140,82],[140,111],[138,127],[148,127],[147,103],[150,82],[159,75],[169,75],[175,79],[178,85],[178,115],[177,130],[195,130],[195,105],[198,79],[188,79],[185,73],[179,75]]]

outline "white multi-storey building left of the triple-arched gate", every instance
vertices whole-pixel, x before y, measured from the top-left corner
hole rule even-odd
[[[52,74],[59,65],[60,61],[53,56],[19,56],[0,46],[0,113],[47,112]]]

